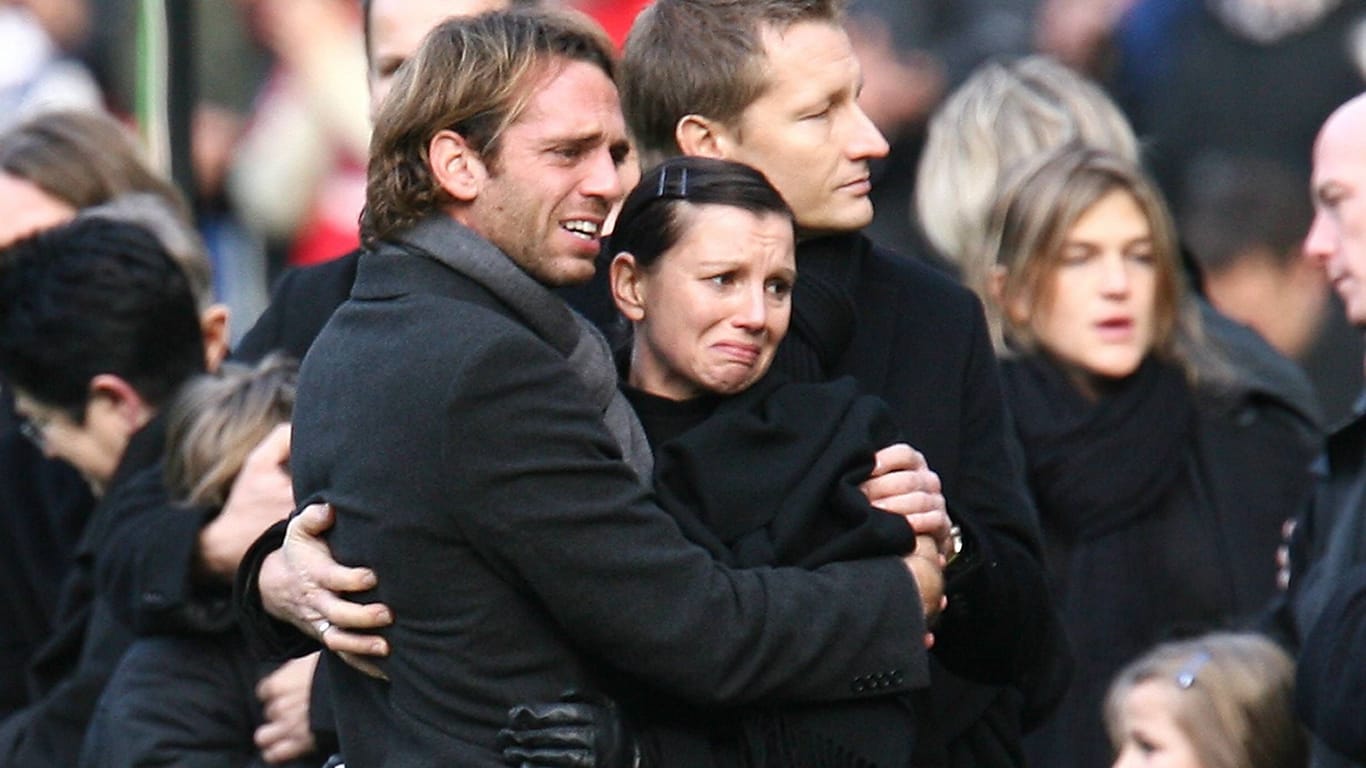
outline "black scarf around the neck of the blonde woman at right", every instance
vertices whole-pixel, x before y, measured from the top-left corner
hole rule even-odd
[[[1143,515],[1186,471],[1195,410],[1175,366],[1149,358],[1097,400],[1046,358],[1003,361],[1001,376],[1040,514],[1067,540]]]

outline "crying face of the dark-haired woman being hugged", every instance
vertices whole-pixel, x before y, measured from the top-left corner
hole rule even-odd
[[[732,395],[773,362],[796,279],[792,223],[727,205],[683,213],[683,235],[649,271],[612,264],[617,306],[635,327],[630,383],[684,400]]]

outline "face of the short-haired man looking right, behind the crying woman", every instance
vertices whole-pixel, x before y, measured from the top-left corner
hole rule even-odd
[[[764,33],[768,89],[729,131],[728,160],[768,176],[802,236],[873,220],[869,160],[887,139],[858,105],[862,74],[848,34],[826,22]]]

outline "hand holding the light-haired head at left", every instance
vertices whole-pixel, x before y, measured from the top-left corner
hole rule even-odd
[[[288,461],[290,425],[281,424],[251,450],[223,511],[199,530],[199,566],[206,575],[231,582],[251,543],[294,508]]]

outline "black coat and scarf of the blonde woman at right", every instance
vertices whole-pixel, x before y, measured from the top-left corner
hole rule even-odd
[[[1152,358],[1098,383],[1097,400],[1044,357],[1003,373],[1078,672],[1026,746],[1040,764],[1101,765],[1101,702],[1120,667],[1173,635],[1246,622],[1273,594],[1314,430],[1272,399],[1191,391]]]

